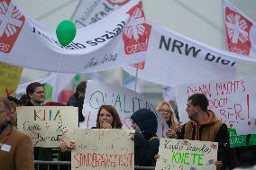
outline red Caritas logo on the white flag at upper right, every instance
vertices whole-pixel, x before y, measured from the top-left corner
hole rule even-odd
[[[225,8],[225,28],[228,49],[238,54],[250,55],[250,30],[252,22],[230,8]]]

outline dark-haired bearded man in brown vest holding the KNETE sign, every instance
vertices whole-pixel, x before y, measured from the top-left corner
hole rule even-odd
[[[207,110],[208,100],[205,94],[193,94],[187,100],[187,114],[190,119],[180,131],[172,130],[178,139],[218,142],[218,170],[229,163],[229,134],[226,124],[215,113]]]

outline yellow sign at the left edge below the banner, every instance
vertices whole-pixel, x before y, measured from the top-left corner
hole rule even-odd
[[[0,62],[0,96],[15,96],[23,67],[16,67]]]

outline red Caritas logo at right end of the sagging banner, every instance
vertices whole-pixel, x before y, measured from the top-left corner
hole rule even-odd
[[[147,50],[151,35],[151,25],[145,23],[142,2],[133,6],[127,13],[131,15],[131,18],[123,31],[125,54],[129,55]]]

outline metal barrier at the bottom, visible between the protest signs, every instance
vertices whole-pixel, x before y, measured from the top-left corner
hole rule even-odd
[[[34,160],[35,170],[62,170],[67,169],[71,170],[71,162],[70,161],[41,161]],[[61,166],[65,166],[64,168]],[[43,167],[43,168],[41,168]],[[134,166],[136,170],[154,170],[154,166]]]

